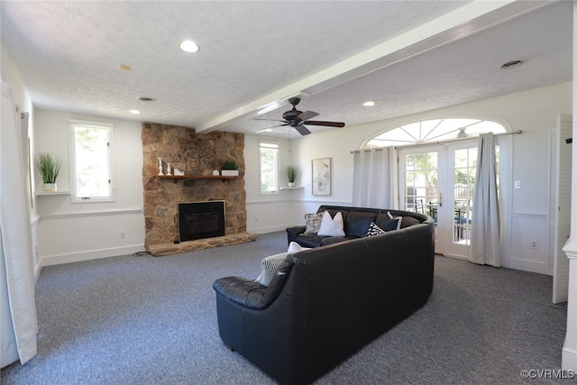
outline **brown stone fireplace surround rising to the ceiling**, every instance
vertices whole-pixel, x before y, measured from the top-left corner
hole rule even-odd
[[[246,193],[241,179],[160,179],[158,158],[185,175],[212,175],[224,160],[236,160],[244,175],[244,134],[199,133],[167,124],[142,124],[144,246],[179,239],[178,204],[206,200],[226,202],[226,234],[246,232]]]

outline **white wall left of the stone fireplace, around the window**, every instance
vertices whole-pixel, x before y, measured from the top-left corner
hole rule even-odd
[[[35,153],[62,160],[58,189],[69,190],[69,119],[114,124],[114,202],[71,203],[66,195],[39,195],[37,250],[42,266],[144,250],[142,124],[90,115],[36,110]],[[37,189],[41,179],[35,173]],[[121,238],[121,232],[125,237]]]

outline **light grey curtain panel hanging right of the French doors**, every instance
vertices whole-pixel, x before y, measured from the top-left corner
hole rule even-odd
[[[495,164],[493,133],[483,133],[479,135],[469,261],[499,267],[502,264],[502,257]]]

